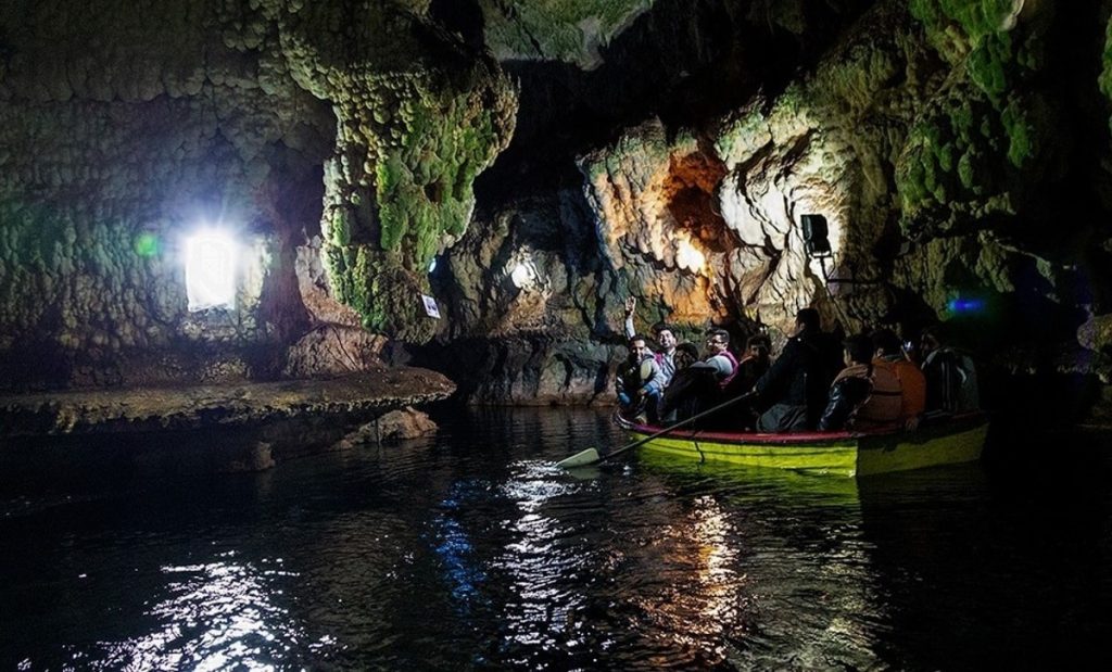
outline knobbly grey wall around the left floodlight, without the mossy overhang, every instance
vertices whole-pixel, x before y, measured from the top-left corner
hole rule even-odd
[[[331,115],[206,4],[4,8],[8,385],[246,376],[304,320],[274,300],[304,226],[277,196],[319,204]],[[245,247],[236,308],[189,313],[183,237],[218,221]]]

